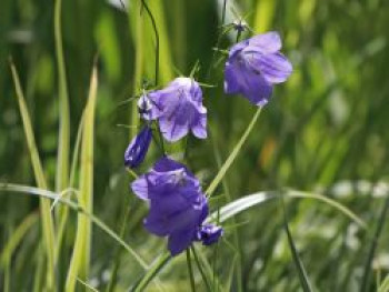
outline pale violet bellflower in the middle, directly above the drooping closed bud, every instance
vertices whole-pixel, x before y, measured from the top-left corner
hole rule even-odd
[[[151,110],[143,118],[159,120],[162,135],[178,141],[189,131],[197,138],[207,138],[207,109],[202,105],[202,91],[191,78],[176,78],[168,87],[149,92]]]

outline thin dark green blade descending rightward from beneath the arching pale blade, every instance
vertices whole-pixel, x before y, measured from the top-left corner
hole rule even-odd
[[[290,251],[292,253],[297,271],[299,273],[299,279],[300,279],[300,283],[301,283],[302,290],[305,292],[311,292],[312,288],[311,288],[311,284],[309,282],[306,269],[303,268],[302,261],[301,261],[301,259],[299,256],[299,253],[298,253],[298,251],[296,249],[296,245],[295,245],[295,242],[293,242],[293,238],[292,238],[292,235],[290,233],[290,230],[289,230],[287,211],[286,211],[286,208],[285,208],[283,198],[281,197],[280,200],[281,200],[282,211],[283,211],[283,226],[285,226],[285,231],[286,231],[287,236],[288,236],[289,248],[290,248]]]

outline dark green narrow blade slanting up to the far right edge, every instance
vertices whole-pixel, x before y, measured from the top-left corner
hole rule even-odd
[[[377,223],[377,229],[375,232],[375,236],[371,241],[371,245],[369,249],[369,253],[368,253],[368,258],[366,259],[366,263],[365,263],[365,271],[363,271],[363,278],[362,278],[362,282],[360,285],[360,291],[365,292],[368,291],[368,286],[369,286],[369,280],[370,280],[370,269],[371,269],[371,262],[375,258],[375,252],[377,250],[377,245],[378,245],[378,241],[379,238],[382,233],[382,229],[386,222],[386,218],[387,218],[387,213],[388,213],[388,209],[389,209],[389,194],[387,193],[387,198],[385,200],[385,204],[382,207],[382,211],[379,215],[378,219],[378,223]]]

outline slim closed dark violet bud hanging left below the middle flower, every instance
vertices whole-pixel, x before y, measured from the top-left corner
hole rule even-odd
[[[137,168],[144,160],[152,138],[150,127],[146,125],[130,142],[124,152],[124,165]]]

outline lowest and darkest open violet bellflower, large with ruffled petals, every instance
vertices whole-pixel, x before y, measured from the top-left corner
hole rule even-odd
[[[168,236],[172,255],[197,240],[199,228],[208,215],[208,203],[200,182],[183,164],[162,158],[132,182],[131,189],[149,202],[146,229],[158,236]]]

